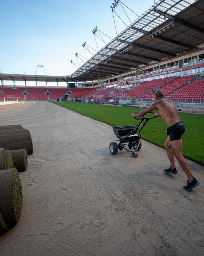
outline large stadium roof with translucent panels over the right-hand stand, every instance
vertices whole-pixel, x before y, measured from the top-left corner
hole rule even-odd
[[[204,47],[204,0],[159,0],[71,76],[94,81]]]

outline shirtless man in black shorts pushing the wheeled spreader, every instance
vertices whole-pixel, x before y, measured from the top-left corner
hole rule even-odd
[[[184,186],[183,189],[186,191],[190,191],[191,189],[197,187],[199,182],[195,179],[192,172],[190,171],[189,164],[186,159],[182,155],[182,139],[181,135],[185,132],[185,126],[182,123],[179,113],[172,101],[165,100],[164,93],[161,89],[157,89],[154,92],[154,100],[150,107],[145,110],[140,111],[137,114],[131,114],[132,118],[141,117],[153,109],[156,109],[159,114],[154,114],[155,117],[162,117],[163,120],[169,126],[167,129],[167,134],[169,135],[164,142],[165,149],[167,151],[167,155],[171,166],[169,169],[164,169],[165,173],[177,174],[175,168],[174,155],[177,158],[181,168],[186,173],[188,177],[187,186]],[[172,149],[173,151],[172,151]]]

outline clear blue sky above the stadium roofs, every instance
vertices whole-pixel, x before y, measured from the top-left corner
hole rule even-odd
[[[111,38],[116,36],[111,0],[103,1],[2,1],[0,70],[2,73],[34,74],[44,65],[48,75],[70,75],[78,63],[75,53],[85,57],[84,41],[97,50],[92,30],[95,26]],[[122,2],[141,15],[154,0]],[[124,7],[131,21],[137,16]],[[116,13],[126,25],[130,22],[119,5]],[[126,26],[114,15],[117,33]],[[110,39],[101,34],[104,41]],[[99,49],[104,43],[96,37]],[[94,51],[93,51],[94,52]],[[91,55],[86,51],[87,57]],[[81,62],[80,62],[81,64]],[[74,69],[73,69],[74,67]]]

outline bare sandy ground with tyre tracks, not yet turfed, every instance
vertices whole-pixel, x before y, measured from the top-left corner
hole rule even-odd
[[[137,158],[113,156],[107,124],[49,102],[8,108],[0,125],[29,129],[34,152],[0,255],[204,255],[204,167],[188,161],[200,185],[186,192],[178,165],[178,175],[163,173],[162,148],[142,141]]]

